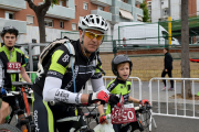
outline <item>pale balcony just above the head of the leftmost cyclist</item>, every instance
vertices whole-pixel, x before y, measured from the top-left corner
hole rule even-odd
[[[0,18],[0,29],[12,25],[19,30],[19,33],[27,33],[27,21],[7,20]]]

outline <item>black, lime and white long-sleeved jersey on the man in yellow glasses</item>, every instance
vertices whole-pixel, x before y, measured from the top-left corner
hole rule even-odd
[[[43,66],[44,74],[42,77],[36,78],[33,85],[33,90],[42,96],[44,101],[57,100],[66,103],[81,103],[82,94],[77,92],[88,79],[91,79],[94,92],[98,90],[108,92],[104,86],[102,73],[96,67],[97,64],[101,64],[98,54],[92,53],[87,58],[81,51],[78,40],[73,41],[72,45],[75,50],[74,78],[76,94],[74,92],[72,69],[67,67],[71,54],[66,46],[60,45],[52,53],[49,63]],[[98,67],[102,67],[102,65],[98,65]]]

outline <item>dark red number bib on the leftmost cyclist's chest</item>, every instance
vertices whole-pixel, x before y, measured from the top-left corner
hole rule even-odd
[[[7,73],[20,73],[21,72],[21,63],[7,63]]]

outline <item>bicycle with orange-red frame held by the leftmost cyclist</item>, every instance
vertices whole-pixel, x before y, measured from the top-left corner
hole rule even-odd
[[[0,132],[21,132],[20,129],[22,125],[27,127],[28,132],[34,132],[35,125],[32,121],[27,98],[27,94],[30,94],[31,90],[29,87],[32,86],[32,82],[13,81],[12,86],[15,87],[15,91],[7,91],[7,96],[2,97],[3,99],[8,100],[12,110],[6,123],[0,124]],[[21,106],[23,106],[24,109],[20,108]],[[18,119],[17,114],[24,114],[24,117]],[[10,124],[13,116],[15,116],[17,120],[15,127]]]

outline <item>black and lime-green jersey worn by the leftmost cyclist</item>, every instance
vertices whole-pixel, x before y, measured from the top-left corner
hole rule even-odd
[[[25,61],[24,61],[24,54],[19,50],[13,47],[12,52],[10,53],[10,51],[6,47],[2,46],[0,47],[0,65],[3,64],[3,66],[0,67],[7,67],[7,63],[20,63],[21,67],[25,66]],[[0,86],[1,87],[6,87],[6,88],[12,88],[12,90],[15,90],[15,88],[11,85],[12,81],[19,81],[19,74],[8,74],[7,73],[7,68],[4,68],[4,75],[2,73],[0,74]],[[4,81],[2,80],[2,76],[4,76]],[[2,86],[3,82],[3,86]]]

